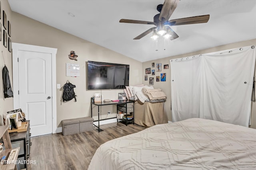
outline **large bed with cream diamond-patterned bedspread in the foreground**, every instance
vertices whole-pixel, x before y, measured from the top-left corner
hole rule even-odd
[[[95,152],[89,170],[256,168],[256,129],[192,118],[113,139]]]

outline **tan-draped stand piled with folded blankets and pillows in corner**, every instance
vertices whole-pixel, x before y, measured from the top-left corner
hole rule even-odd
[[[126,98],[134,100],[134,123],[144,127],[168,123],[168,117],[164,113],[166,94],[160,88],[140,84],[126,86],[124,89]]]

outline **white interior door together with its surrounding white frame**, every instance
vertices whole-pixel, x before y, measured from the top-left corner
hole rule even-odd
[[[12,43],[13,107],[30,120],[32,136],[57,133],[57,49]]]

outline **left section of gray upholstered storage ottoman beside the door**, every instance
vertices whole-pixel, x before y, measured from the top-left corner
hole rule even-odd
[[[62,134],[66,136],[79,133],[79,123],[79,119],[62,120]]]

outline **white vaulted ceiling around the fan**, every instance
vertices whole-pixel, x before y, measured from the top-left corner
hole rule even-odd
[[[8,0],[11,10],[138,61],[256,38],[256,0],[180,0],[170,20],[210,14],[207,23],[177,25],[172,41],[133,38],[152,25],[120,19],[153,21],[164,0]],[[69,14],[71,13],[71,14]],[[74,14],[74,17],[71,16]]]

